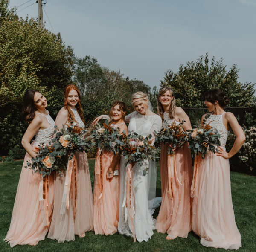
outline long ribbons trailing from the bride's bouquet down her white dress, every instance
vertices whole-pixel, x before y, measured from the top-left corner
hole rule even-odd
[[[134,229],[134,217],[135,217],[135,209],[134,209],[134,192],[133,192],[133,166],[129,164],[127,167],[126,174],[126,207],[128,208],[129,217],[131,220],[131,231],[132,236],[134,238],[134,242],[136,242],[136,235]]]

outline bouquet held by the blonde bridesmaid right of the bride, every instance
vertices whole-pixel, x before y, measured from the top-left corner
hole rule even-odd
[[[162,128],[159,133],[155,132],[157,133],[155,145],[160,147],[161,143],[169,143],[172,147],[168,148],[168,154],[174,154],[173,148],[178,148],[188,141],[187,133],[182,127],[183,123],[184,121],[177,125],[172,122],[171,125],[166,125],[166,127]]]

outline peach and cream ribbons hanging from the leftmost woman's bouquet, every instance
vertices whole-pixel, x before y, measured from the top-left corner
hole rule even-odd
[[[40,177],[38,194],[39,194],[39,205],[41,210],[41,217],[44,223],[44,226],[49,226],[49,214],[48,214],[48,205],[49,205],[49,178],[48,175]]]

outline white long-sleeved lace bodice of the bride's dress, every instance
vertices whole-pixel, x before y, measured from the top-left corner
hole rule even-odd
[[[154,138],[154,130],[158,133],[162,127],[162,119],[157,115],[144,116],[134,111],[130,114],[129,131],[142,135],[143,137],[151,134]],[[129,115],[129,116],[130,116]]]

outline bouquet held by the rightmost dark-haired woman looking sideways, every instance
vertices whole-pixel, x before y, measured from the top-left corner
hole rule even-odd
[[[215,153],[216,146],[218,147],[221,145],[219,140],[221,136],[218,133],[218,130],[213,129],[209,124],[206,124],[206,120],[203,121],[201,129],[187,130],[192,157],[194,157],[195,154],[201,153],[202,159],[204,159],[207,150]]]

